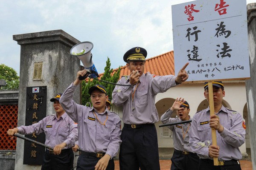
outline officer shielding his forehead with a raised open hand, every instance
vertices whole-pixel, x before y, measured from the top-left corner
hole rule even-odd
[[[171,118],[176,110],[176,118]],[[177,98],[172,107],[162,116],[161,121],[164,124],[192,120],[189,116],[189,103],[184,99]],[[189,146],[190,123],[168,126],[173,133],[174,153],[172,155],[171,170],[198,170],[199,157]]]

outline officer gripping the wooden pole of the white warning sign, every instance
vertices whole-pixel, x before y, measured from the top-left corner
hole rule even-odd
[[[210,116],[210,108],[199,111],[193,116],[189,143],[200,157],[198,170],[241,170],[239,160],[242,154],[239,147],[244,143],[245,122],[237,111],[222,105],[225,96],[221,81],[212,82],[215,114]],[[204,83],[204,96],[209,102],[208,82]],[[212,144],[211,128],[217,130],[217,145]],[[213,158],[218,157],[218,165]]]

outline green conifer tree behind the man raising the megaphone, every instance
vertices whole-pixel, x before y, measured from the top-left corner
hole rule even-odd
[[[116,71],[116,73],[113,74],[113,76],[111,76],[111,73],[113,72],[113,68],[110,68],[111,66],[111,62],[110,59],[108,58],[108,60],[106,61],[106,67],[104,68],[104,74],[101,77],[101,80],[105,81],[100,81],[97,79],[93,79],[93,81],[88,81],[88,83],[85,83],[85,81],[82,81],[82,105],[86,105],[87,102],[91,102],[90,100],[90,94],[88,93],[89,88],[93,85],[103,85],[106,90],[107,90],[107,95],[108,98],[111,100],[112,99],[112,91],[115,88],[115,83],[118,81],[119,79],[119,75],[120,75],[120,67],[119,69]],[[106,82],[111,82],[111,83],[106,83]]]

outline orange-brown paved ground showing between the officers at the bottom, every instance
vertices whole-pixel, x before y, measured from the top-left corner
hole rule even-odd
[[[159,148],[159,158],[160,158],[160,169],[170,170],[171,169],[171,157],[173,153],[173,148]],[[250,149],[247,149],[247,158],[240,160],[242,170],[252,170],[252,161]],[[118,159],[118,158],[117,158]],[[119,160],[115,160],[115,170],[119,170]]]

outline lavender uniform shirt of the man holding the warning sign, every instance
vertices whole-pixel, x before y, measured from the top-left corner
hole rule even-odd
[[[245,129],[241,114],[222,105],[217,116],[224,127],[221,133],[216,131],[217,145],[220,147],[218,160],[242,159],[239,147],[244,143]],[[196,113],[191,123],[189,144],[201,159],[212,159],[209,157],[209,145],[212,145],[212,129],[209,126],[209,119],[210,109],[208,107]]]

